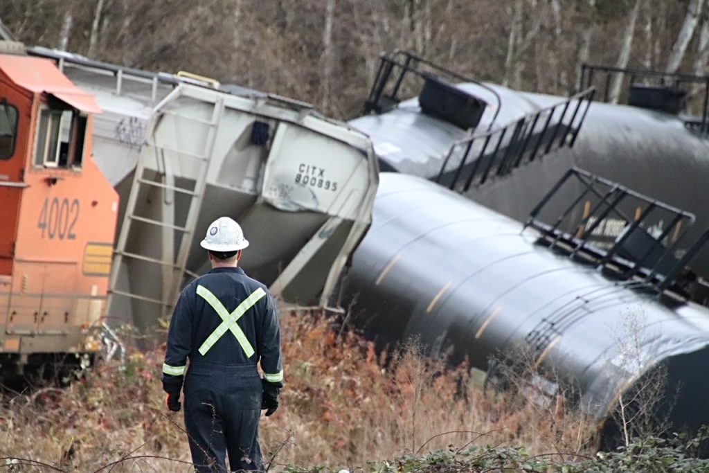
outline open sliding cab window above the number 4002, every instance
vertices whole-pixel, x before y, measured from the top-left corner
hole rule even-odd
[[[35,166],[82,166],[86,115],[74,108],[43,108],[37,127]]]

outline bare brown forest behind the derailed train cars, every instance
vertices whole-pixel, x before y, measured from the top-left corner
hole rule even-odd
[[[707,0],[3,0],[28,45],[362,111],[381,52],[566,94],[583,62],[705,74]]]

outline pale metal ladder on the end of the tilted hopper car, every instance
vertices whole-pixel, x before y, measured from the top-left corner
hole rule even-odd
[[[202,204],[206,188],[207,175],[216,142],[220,117],[224,111],[224,101],[223,98],[219,96],[216,96],[212,104],[211,118],[209,120],[203,120],[195,116],[187,116],[184,113],[177,113],[175,111],[161,110],[163,104],[182,95],[181,91],[182,90],[178,87],[155,108],[156,110],[160,110],[160,112],[153,117],[146,148],[155,150],[155,159],[159,164],[162,164],[162,169],[157,173],[155,180],[148,179],[145,171],[150,172],[154,169],[147,166],[147,160],[150,158],[141,154],[138,166],[135,169],[133,186],[130,189],[128,203],[125,208],[121,234],[116,243],[116,256],[113,262],[111,288],[109,291],[109,297],[113,297],[113,295],[125,296],[133,299],[133,301],[154,304],[156,309],[160,310],[161,316],[169,315],[169,310],[172,308],[177,298],[179,279],[186,272],[186,262],[191,243],[194,239],[194,228],[197,218],[199,217],[199,208]],[[195,153],[171,148],[164,143],[157,143],[155,135],[152,132],[164,116],[172,116],[179,120],[184,120],[186,123],[193,123],[194,129],[198,127],[206,128],[206,139],[203,143],[203,150]],[[170,159],[174,155],[199,162],[199,171],[195,176],[194,188],[190,189],[189,187],[183,187],[177,184],[176,179],[174,179],[175,176],[172,173],[172,167],[175,163]],[[145,197],[148,195],[145,194],[146,191],[157,191],[158,198],[163,199],[163,218],[152,218],[140,215],[140,198],[141,196]],[[176,194],[182,194],[182,196],[189,199],[186,220],[182,225],[174,221],[174,208],[171,208],[169,205],[165,206],[167,201],[172,201],[172,204],[174,204]],[[157,237],[157,239],[162,242],[162,245],[159,247],[144,247],[139,251],[129,251],[130,239],[135,238],[134,229],[136,226],[140,225],[151,228],[152,238]],[[179,238],[177,255],[174,254],[176,234],[182,235],[182,238]],[[160,267],[162,267],[162,294],[158,297],[146,296],[145,294],[138,294],[136,291],[123,291],[118,289],[118,274],[121,272],[121,267],[123,267],[125,260],[138,260],[148,265],[160,265]],[[197,276],[197,274],[192,274],[191,272],[190,275],[193,277]]]

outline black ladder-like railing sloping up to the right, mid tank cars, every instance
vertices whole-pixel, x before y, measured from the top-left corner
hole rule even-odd
[[[591,106],[594,91],[591,87],[507,126],[476,133],[454,143],[436,182],[454,191],[466,192],[490,177],[509,174],[554,150],[571,148]]]

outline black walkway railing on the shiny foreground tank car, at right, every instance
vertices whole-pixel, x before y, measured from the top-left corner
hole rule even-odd
[[[708,230],[686,243],[694,220],[692,213],[572,168],[532,209],[525,228],[540,230],[540,243],[605,274],[688,299],[696,277],[686,265],[709,240]]]

